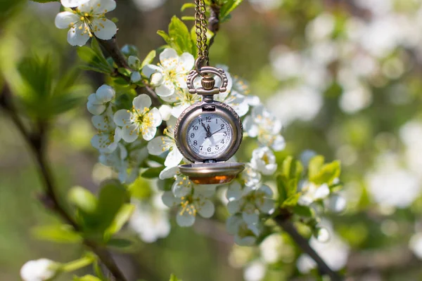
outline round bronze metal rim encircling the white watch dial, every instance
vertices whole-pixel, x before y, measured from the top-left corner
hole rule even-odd
[[[196,117],[204,113],[203,107],[207,105],[215,106],[215,115],[219,115],[225,119],[231,126],[233,131],[232,141],[226,148],[226,153],[223,155],[217,155],[217,157],[203,157],[194,152],[188,145],[186,138],[186,131],[188,130],[188,124],[190,124]],[[241,118],[238,116],[233,108],[229,107],[225,103],[220,103],[215,100],[203,100],[200,103],[196,103],[188,107],[184,112],[181,113],[177,123],[174,126],[174,139],[176,145],[181,154],[188,159],[190,162],[205,162],[206,160],[215,160],[217,162],[223,162],[230,159],[239,149],[243,140],[243,125]]]

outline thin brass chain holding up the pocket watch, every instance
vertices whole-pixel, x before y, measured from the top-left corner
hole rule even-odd
[[[205,12],[204,0],[195,0],[195,31],[196,31],[196,47],[198,48],[198,61],[204,65],[209,65],[207,46],[207,18]]]

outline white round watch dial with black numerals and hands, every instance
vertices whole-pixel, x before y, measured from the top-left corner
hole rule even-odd
[[[188,124],[186,140],[191,150],[200,157],[217,158],[233,141],[233,129],[221,115],[204,113]]]

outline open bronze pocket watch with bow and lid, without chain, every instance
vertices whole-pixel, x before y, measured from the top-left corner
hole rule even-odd
[[[234,156],[243,138],[241,119],[233,108],[214,100],[214,95],[224,93],[228,79],[224,70],[215,67],[198,67],[187,79],[189,93],[203,96],[203,100],[181,113],[174,126],[177,148],[192,164],[180,165],[181,174],[189,176],[193,183],[228,183],[245,165],[226,162]],[[222,81],[215,86],[215,76]],[[201,79],[202,87],[194,81]]]

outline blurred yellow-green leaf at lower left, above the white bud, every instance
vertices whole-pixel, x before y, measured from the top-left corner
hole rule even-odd
[[[82,236],[75,232],[72,226],[64,224],[38,226],[32,229],[32,234],[39,240],[48,240],[58,243],[79,243],[82,241]]]

